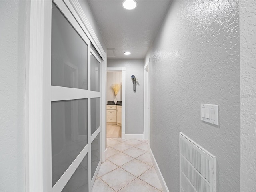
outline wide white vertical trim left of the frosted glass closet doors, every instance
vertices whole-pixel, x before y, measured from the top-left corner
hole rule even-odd
[[[50,92],[51,76],[51,1],[30,2],[30,54],[28,78],[28,174],[27,191],[51,191],[52,177],[47,172],[51,167],[50,142],[45,142],[51,134]]]

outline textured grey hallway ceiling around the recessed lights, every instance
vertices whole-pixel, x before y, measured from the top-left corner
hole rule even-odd
[[[125,10],[122,0],[88,0],[108,49],[108,58],[144,58],[169,8],[170,0],[137,0],[134,10]],[[129,56],[124,52],[131,52]]]

